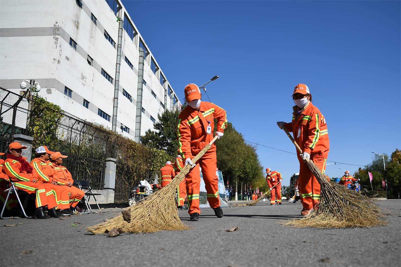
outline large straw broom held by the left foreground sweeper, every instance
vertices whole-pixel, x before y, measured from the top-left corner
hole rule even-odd
[[[195,164],[202,158],[216,140],[217,136],[192,159],[192,162]],[[122,210],[122,214],[107,222],[89,227],[88,231],[93,234],[100,234],[105,233],[107,229],[113,228],[131,233],[152,233],[161,230],[188,230],[189,228],[183,225],[180,217],[178,217],[175,194],[177,186],[184,180],[190,168],[191,166],[189,164],[186,165],[174,177],[170,184],[148,196],[143,201],[138,202],[136,205]]]

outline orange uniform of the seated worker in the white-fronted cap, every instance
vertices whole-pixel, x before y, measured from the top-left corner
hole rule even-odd
[[[50,188],[53,194],[55,194],[58,209],[68,209],[70,208],[68,191],[56,184],[51,184],[51,182],[57,182],[57,178],[55,177],[52,168],[48,165],[48,162],[50,161],[45,161],[40,158],[34,158],[31,160],[30,166],[33,167],[33,173],[38,177],[36,183],[44,184],[45,188],[47,188],[46,190]]]

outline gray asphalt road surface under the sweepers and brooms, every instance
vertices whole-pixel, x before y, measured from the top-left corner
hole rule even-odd
[[[1,220],[1,266],[401,266],[401,201],[383,200],[390,224],[356,229],[292,228],[301,204],[201,211],[188,231],[108,237],[85,229],[119,213],[74,215],[64,220]],[[3,225],[23,223],[15,227]],[[73,226],[72,224],[75,223]],[[237,231],[225,229],[238,227]],[[22,254],[30,250],[32,253]]]

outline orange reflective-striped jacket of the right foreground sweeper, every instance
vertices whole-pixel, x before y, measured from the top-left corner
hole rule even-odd
[[[300,112],[297,113],[297,106],[293,107],[292,122],[286,123],[288,131],[292,131],[294,140],[298,143],[303,152],[310,156],[321,156],[327,158],[329,151],[329,141],[327,133],[326,119],[311,102],[308,103]],[[300,163],[304,162],[299,156]]]

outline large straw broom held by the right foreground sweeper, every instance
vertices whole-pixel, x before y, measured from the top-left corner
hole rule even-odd
[[[287,136],[300,153],[301,148],[286,128]],[[340,184],[329,182],[312,160],[306,159],[306,165],[318,180],[321,191],[320,200],[314,212],[300,220],[292,220],[286,225],[295,227],[371,227],[386,225],[381,209],[367,196],[352,192]]]

